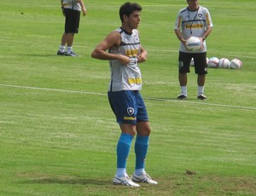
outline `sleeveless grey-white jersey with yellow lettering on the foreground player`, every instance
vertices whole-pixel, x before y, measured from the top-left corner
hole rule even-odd
[[[130,58],[128,65],[122,64],[118,60],[110,60],[111,81],[109,91],[139,90],[142,89],[142,73],[137,63],[137,56],[140,55],[141,43],[137,29],[131,34],[122,28],[115,30],[121,35],[120,45],[109,49],[110,54],[126,55]]]

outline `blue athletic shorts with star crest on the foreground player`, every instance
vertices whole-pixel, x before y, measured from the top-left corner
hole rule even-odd
[[[148,112],[138,90],[108,91],[108,101],[118,124],[148,122]]]

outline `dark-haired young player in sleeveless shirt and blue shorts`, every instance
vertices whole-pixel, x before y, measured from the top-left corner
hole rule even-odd
[[[123,4],[119,9],[122,26],[110,32],[91,54],[93,58],[109,61],[111,81],[108,101],[121,130],[113,184],[130,187],[140,187],[137,182],[157,184],[146,173],[144,163],[148,152],[150,125],[148,112],[139,92],[142,89],[142,74],[138,63],[147,59],[147,51],[143,49],[137,31],[141,11],[142,7],[137,3]],[[136,167],[130,178],[126,173],[126,159],[135,135]]]

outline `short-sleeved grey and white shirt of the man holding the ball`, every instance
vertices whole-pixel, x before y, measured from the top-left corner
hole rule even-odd
[[[200,6],[199,9],[195,11],[191,11],[188,8],[181,9],[177,14],[174,30],[180,30],[183,34],[183,38],[188,39],[191,36],[203,37],[208,26],[213,26],[211,15],[208,9]],[[203,44],[204,49],[199,52],[207,51],[206,41],[204,41]],[[181,43],[179,50],[182,52],[190,52],[184,47],[183,43]],[[196,53],[198,53],[198,51],[196,51]]]

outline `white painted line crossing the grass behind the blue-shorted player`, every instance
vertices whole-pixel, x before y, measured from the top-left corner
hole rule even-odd
[[[85,95],[104,95],[107,96],[107,94],[103,93],[95,93],[95,92],[85,92],[85,91],[79,91],[79,90],[67,90],[67,89],[47,89],[47,88],[39,88],[39,87],[30,87],[30,86],[19,86],[19,85],[9,85],[9,84],[0,84],[0,86],[3,87],[10,87],[10,88],[19,88],[19,89],[38,89],[38,90],[48,90],[48,91],[55,91],[55,92],[64,92],[64,93],[77,93],[77,94],[85,94]],[[145,100],[151,100],[151,101],[172,101],[176,102],[178,100],[172,100],[172,99],[159,99],[159,98],[151,98],[151,97],[144,97]],[[181,101],[178,101],[179,103]],[[237,109],[247,109],[247,110],[256,110],[256,107],[241,107],[241,106],[232,106],[232,105],[224,105],[224,104],[215,104],[215,103],[207,103],[207,102],[195,102],[195,101],[183,101],[185,104],[197,104],[197,105],[206,105],[206,106],[213,106],[213,107],[231,107],[231,108],[237,108]]]

